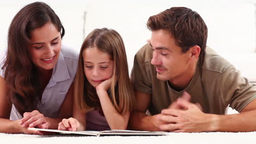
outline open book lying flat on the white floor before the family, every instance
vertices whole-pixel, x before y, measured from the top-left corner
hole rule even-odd
[[[136,130],[104,130],[104,131],[67,131],[56,129],[39,129],[28,128],[38,131],[50,131],[60,134],[78,134],[78,135],[91,135],[91,136],[106,136],[106,135],[167,135],[164,131],[136,131]]]

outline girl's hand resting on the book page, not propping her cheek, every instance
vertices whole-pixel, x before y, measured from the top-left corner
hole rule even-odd
[[[71,117],[71,118],[64,118],[62,119],[62,122],[59,123],[59,130],[68,130],[68,131],[78,131],[80,128],[80,123],[77,121],[77,119]]]

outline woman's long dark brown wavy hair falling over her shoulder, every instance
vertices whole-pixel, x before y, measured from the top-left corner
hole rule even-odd
[[[14,104],[21,115],[26,111],[36,110],[36,105],[43,93],[39,85],[36,66],[30,59],[28,46],[31,32],[51,22],[61,33],[65,29],[59,17],[48,4],[34,2],[22,8],[11,21],[8,32],[8,49],[2,65],[5,85],[8,87],[8,100]]]

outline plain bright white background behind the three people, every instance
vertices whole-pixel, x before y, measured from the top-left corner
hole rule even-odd
[[[0,55],[3,55],[7,47],[7,33],[11,20],[22,7],[31,2],[34,1],[9,0],[0,3]],[[126,46],[129,70],[132,68],[135,53],[150,38],[150,31],[146,27],[148,17],[177,6],[189,7],[202,16],[208,26],[207,45],[230,58],[230,61],[240,62],[236,56],[247,57],[248,53],[252,54],[255,51],[256,0],[42,2],[48,3],[60,17],[66,29],[62,43],[71,46],[74,51],[80,50],[84,38],[94,28],[107,27],[118,31]],[[252,59],[254,61],[254,57]],[[247,71],[242,74],[249,75],[246,74]]]

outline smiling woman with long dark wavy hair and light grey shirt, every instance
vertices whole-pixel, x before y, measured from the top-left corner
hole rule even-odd
[[[49,5],[26,5],[9,27],[0,71],[0,132],[40,134],[72,116],[78,55],[61,45],[65,34]],[[10,119],[9,119],[10,118]]]

